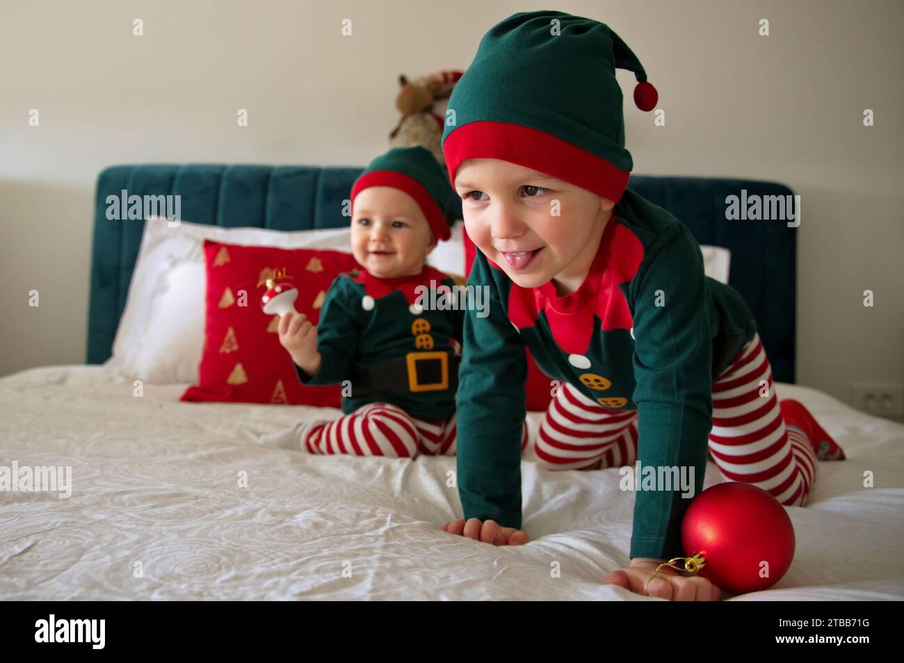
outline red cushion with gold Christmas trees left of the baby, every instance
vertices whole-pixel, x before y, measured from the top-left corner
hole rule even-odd
[[[278,315],[260,308],[268,278],[298,289],[295,308],[315,324],[340,272],[358,267],[348,253],[313,248],[244,247],[204,240],[207,316],[200,385],[180,400],[339,407],[339,385],[305,387],[279,344]],[[188,287],[189,285],[186,285]],[[242,294],[244,293],[244,295]]]

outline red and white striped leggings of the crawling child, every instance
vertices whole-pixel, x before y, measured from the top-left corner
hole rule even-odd
[[[767,396],[760,396],[760,380],[768,382]],[[535,450],[548,469],[622,467],[636,462],[637,437],[636,411],[607,410],[566,383],[546,411]],[[709,446],[726,481],[752,483],[788,506],[805,504],[815,452],[800,428],[786,426],[758,334],[712,384]]]

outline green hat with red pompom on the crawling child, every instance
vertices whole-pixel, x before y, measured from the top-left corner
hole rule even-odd
[[[449,98],[449,182],[466,159],[500,159],[618,202],[634,162],[616,68],[635,73],[635,103],[653,110],[656,89],[605,23],[539,11],[494,25]]]

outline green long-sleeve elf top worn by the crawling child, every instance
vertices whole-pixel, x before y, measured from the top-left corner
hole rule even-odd
[[[477,251],[458,391],[458,491],[465,518],[521,528],[525,347],[548,376],[613,412],[636,410],[642,467],[694,467],[702,490],[712,381],[751,340],[740,295],[703,273],[700,246],[666,210],[627,190],[579,290],[522,288]],[[682,491],[637,490],[633,557],[682,556]]]

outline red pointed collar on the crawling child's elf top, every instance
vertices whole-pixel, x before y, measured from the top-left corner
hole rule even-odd
[[[631,312],[618,285],[635,277],[643,258],[640,240],[624,225],[616,223],[613,211],[599,240],[597,255],[578,290],[559,296],[552,281],[538,288],[523,288],[513,283],[509,293],[509,319],[520,331],[536,326],[543,311],[556,344],[569,354],[587,355],[596,331],[594,316],[602,321],[599,328],[603,331],[633,329]],[[492,260],[487,261],[500,269]]]

